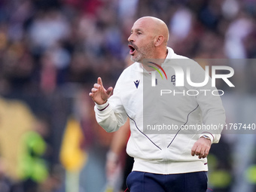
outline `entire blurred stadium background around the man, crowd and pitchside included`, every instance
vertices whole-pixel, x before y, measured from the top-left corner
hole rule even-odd
[[[98,76],[114,86],[133,22],[148,15],[167,23],[176,53],[238,61],[229,63],[236,88],[218,84],[227,122],[255,123],[254,0],[1,0],[1,192],[103,190],[113,134],[96,124],[88,93]],[[209,187],[256,191],[255,145],[254,134],[224,134]]]

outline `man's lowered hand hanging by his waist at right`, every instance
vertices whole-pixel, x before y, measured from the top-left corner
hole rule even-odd
[[[210,148],[211,148],[212,142],[209,139],[205,139],[203,137],[200,137],[200,139],[195,142],[192,150],[191,155],[197,155],[198,158],[206,158],[209,154]]]

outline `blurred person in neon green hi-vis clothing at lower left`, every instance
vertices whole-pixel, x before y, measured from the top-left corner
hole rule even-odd
[[[49,175],[49,146],[45,141],[48,129],[47,121],[38,119],[35,130],[25,133],[20,143],[18,171],[26,192],[38,191],[38,184],[44,182]]]

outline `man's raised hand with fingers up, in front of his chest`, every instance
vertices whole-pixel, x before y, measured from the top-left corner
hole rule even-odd
[[[89,96],[93,99],[94,102],[98,105],[102,105],[107,102],[113,87],[108,87],[108,90],[105,90],[102,84],[102,78],[98,78],[97,84],[93,85],[92,92],[89,93]]]

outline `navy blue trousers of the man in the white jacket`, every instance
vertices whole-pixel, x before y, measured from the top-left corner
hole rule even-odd
[[[131,172],[126,184],[130,192],[206,192],[206,172],[160,175]]]

